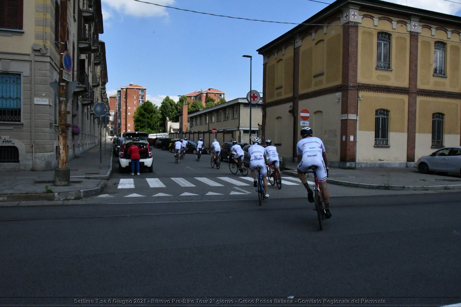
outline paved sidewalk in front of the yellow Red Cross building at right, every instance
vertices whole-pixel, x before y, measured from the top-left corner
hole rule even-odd
[[[285,162],[283,174],[297,176],[297,163]],[[456,190],[461,189],[458,174],[421,174],[417,168],[357,168],[329,167],[327,183],[381,190]]]

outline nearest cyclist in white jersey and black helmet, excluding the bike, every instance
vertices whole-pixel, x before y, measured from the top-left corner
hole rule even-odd
[[[321,139],[312,136],[312,129],[310,127],[303,127],[301,129],[301,137],[302,139],[296,145],[298,177],[307,189],[307,199],[309,202],[313,203],[313,192],[307,184],[307,178],[304,173],[307,172],[311,166],[317,166],[317,178],[319,179],[320,189],[322,190],[323,200],[325,201],[325,217],[329,219],[331,217],[330,193],[326,186],[328,157],[326,156],[325,146]]]

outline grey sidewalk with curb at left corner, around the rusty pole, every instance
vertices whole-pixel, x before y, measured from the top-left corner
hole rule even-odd
[[[69,186],[54,186],[54,170],[7,172],[0,171],[1,202],[81,199],[99,194],[112,171],[112,142],[102,142],[100,163],[99,145],[67,162],[71,169]],[[101,168],[100,168],[101,167]]]

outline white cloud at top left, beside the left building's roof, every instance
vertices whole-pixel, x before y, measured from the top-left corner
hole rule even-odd
[[[174,0],[156,0],[155,3],[161,5],[172,5]],[[168,16],[166,8],[162,6],[154,6],[152,4],[137,2],[133,0],[102,0],[103,16],[105,19],[112,17],[113,11],[117,11],[124,15],[135,17],[150,17],[150,16]]]

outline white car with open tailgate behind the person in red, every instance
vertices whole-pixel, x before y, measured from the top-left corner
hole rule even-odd
[[[131,172],[131,158],[128,153],[127,143],[130,141],[134,145],[139,147],[139,168],[147,168],[149,173],[152,173],[154,170],[154,158],[152,157],[152,152],[150,151],[150,146],[148,143],[149,133],[147,132],[125,132],[123,134],[125,137],[125,142],[122,147],[119,148],[120,154],[118,155],[118,171],[123,173],[124,170],[129,170]]]

